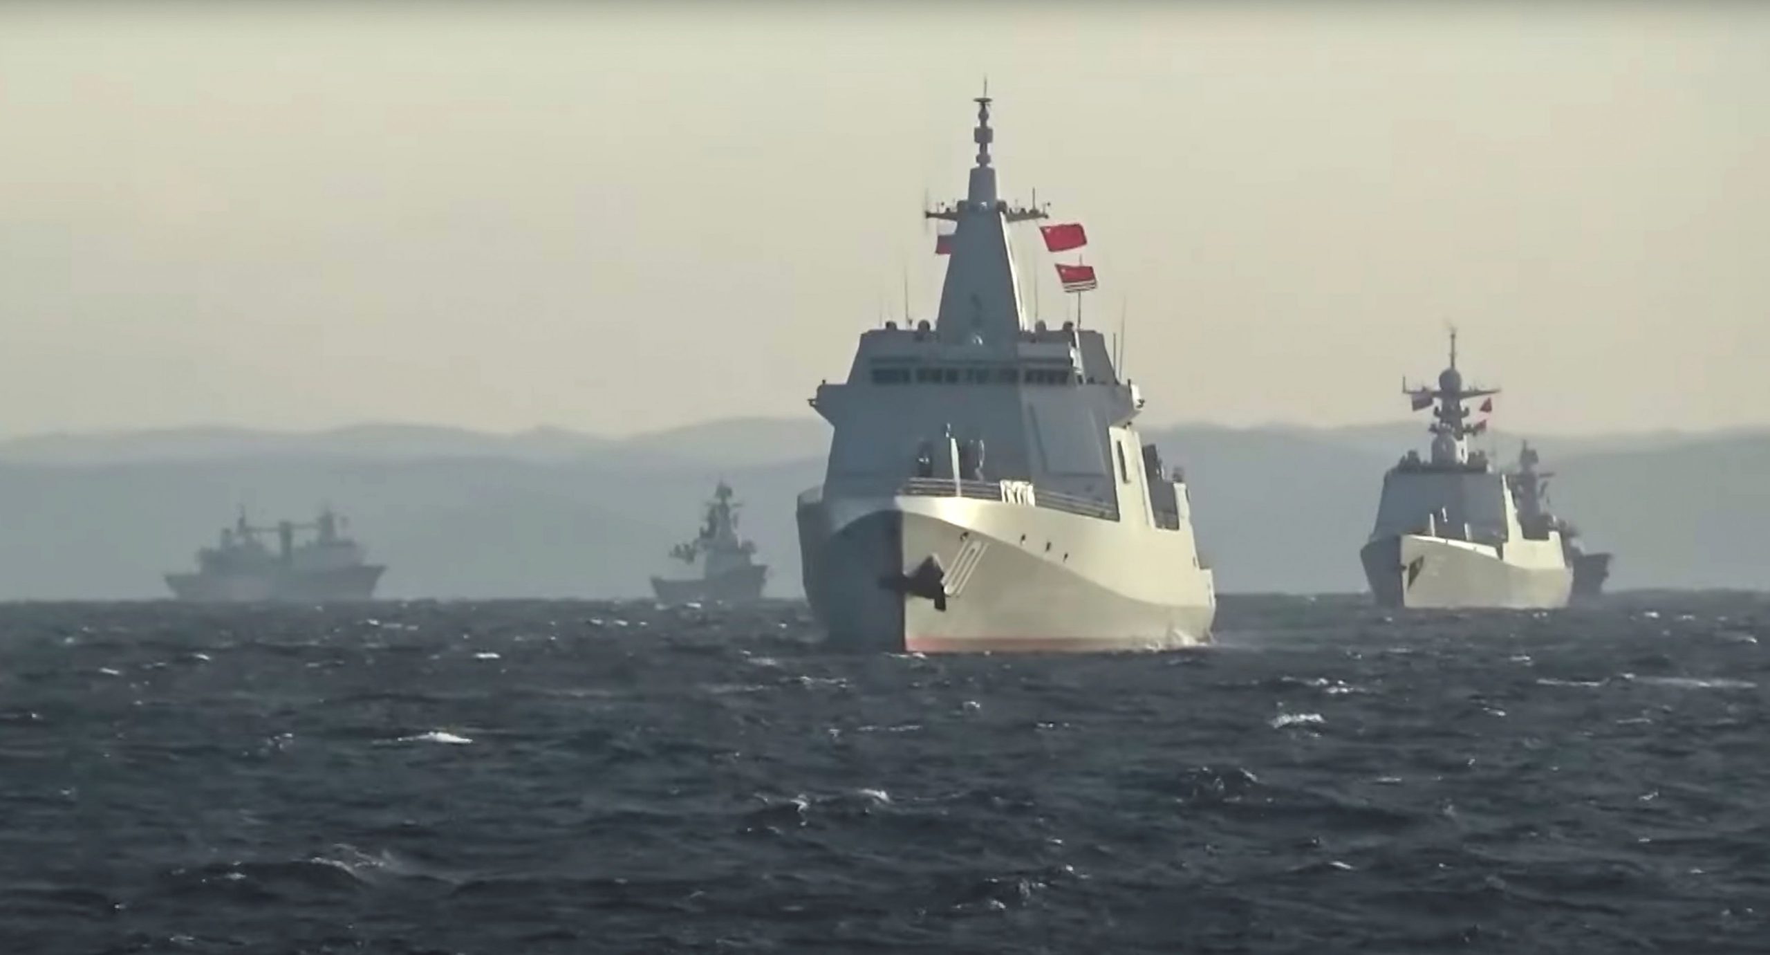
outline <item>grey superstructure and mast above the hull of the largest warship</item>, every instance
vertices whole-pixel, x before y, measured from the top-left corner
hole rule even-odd
[[[1143,397],[1120,379],[1106,338],[1027,321],[1007,229],[1048,213],[1000,198],[991,99],[975,103],[966,197],[926,211],[954,223],[935,321],[862,333],[848,379],[811,399],[835,431],[827,491],[931,477],[1014,482],[1170,526],[1184,501],[1133,429]]]

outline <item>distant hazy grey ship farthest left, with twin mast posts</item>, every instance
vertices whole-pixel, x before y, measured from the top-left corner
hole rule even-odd
[[[296,542],[296,532],[313,539]],[[345,537],[343,519],[331,509],[313,523],[280,521],[274,526],[246,523],[244,510],[232,528],[221,528],[214,547],[196,551],[196,572],[166,574],[166,586],[181,601],[198,602],[352,602],[375,595],[384,565],[365,562],[363,547]],[[276,535],[276,549],[260,535]]]

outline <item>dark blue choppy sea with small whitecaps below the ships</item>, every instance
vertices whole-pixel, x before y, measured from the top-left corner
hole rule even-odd
[[[4,953],[1770,950],[1770,597],[0,608]]]

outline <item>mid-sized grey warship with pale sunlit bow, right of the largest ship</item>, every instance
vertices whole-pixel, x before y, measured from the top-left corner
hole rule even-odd
[[[1414,411],[1432,408],[1432,455],[1420,452],[1382,478],[1377,524],[1359,556],[1370,592],[1395,608],[1561,608],[1574,571],[1554,526],[1520,521],[1512,484],[1467,439],[1487,429],[1469,423],[1466,400],[1497,388],[1466,388],[1457,369],[1457,333],[1450,367],[1437,388],[1402,392]]]

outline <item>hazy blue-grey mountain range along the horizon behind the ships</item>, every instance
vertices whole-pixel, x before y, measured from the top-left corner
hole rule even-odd
[[[1193,484],[1223,590],[1363,588],[1356,551],[1382,471],[1418,423],[1145,431]],[[1770,431],[1535,438],[1556,510],[1612,585],[1770,586]],[[1494,436],[1499,457],[1515,436]],[[326,432],[177,429],[0,441],[0,599],[140,599],[239,507],[260,523],[338,507],[388,597],[634,597],[692,537],[717,478],[743,532],[798,595],[795,496],[821,480],[828,431],[726,420],[635,438],[411,425]]]

